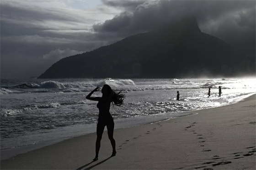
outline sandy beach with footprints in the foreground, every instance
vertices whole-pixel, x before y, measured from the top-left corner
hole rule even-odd
[[[87,134],[1,160],[3,169],[256,169],[256,95],[193,115],[115,129],[117,155],[107,131],[95,156],[96,134]]]

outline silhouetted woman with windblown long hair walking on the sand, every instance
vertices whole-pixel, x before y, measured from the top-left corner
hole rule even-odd
[[[97,139],[96,139],[96,156],[94,161],[98,160],[98,154],[101,147],[101,137],[105,126],[107,126],[108,138],[112,145],[112,155],[115,156],[116,151],[116,141],[113,138],[114,133],[114,120],[109,112],[110,103],[114,103],[116,106],[121,106],[123,104],[124,95],[115,93],[112,88],[105,84],[101,89],[102,97],[91,97],[92,93],[99,91],[100,87],[96,87],[91,93],[89,93],[86,98],[93,101],[98,101],[97,108],[99,108],[99,118],[97,122]]]

